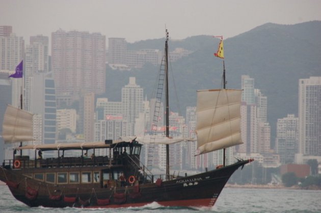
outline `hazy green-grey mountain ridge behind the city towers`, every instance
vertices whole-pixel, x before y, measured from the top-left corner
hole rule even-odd
[[[287,114],[298,116],[298,87],[300,78],[321,76],[321,21],[293,25],[266,23],[248,32],[224,40],[225,67],[228,88],[240,88],[241,76],[255,80],[255,88],[268,97],[268,121],[272,143],[276,134],[276,121]],[[128,44],[128,49],[155,48],[163,50],[164,39],[153,39]],[[222,59],[214,57],[219,39],[211,36],[193,36],[169,41],[170,50],[176,47],[193,53],[170,63],[176,79],[182,114],[186,106],[195,106],[196,90],[220,88],[222,85]],[[142,69],[115,71],[106,69],[106,93],[111,100],[120,99],[121,87],[128,77],[136,77],[150,98],[159,66],[146,64]],[[113,78],[113,79],[112,79]],[[177,81],[179,79],[179,81]],[[118,83],[116,83],[118,82]],[[171,83],[171,82],[170,82]],[[116,92],[119,90],[119,92]],[[173,103],[175,95],[170,96]],[[182,103],[182,104],[181,104]],[[178,111],[175,107],[172,111]]]

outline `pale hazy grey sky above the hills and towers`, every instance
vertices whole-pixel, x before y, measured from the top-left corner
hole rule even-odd
[[[261,24],[321,20],[319,0],[0,0],[0,25],[17,36],[49,36],[65,31],[100,32],[127,42],[196,35],[236,36]],[[108,42],[107,42],[108,43]]]

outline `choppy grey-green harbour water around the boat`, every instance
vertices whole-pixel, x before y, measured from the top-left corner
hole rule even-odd
[[[0,212],[321,212],[321,191],[225,188],[212,208],[144,207],[118,209],[30,208],[14,199],[7,186],[0,186]]]

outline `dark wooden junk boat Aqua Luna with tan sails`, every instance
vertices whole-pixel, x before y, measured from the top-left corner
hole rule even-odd
[[[215,204],[233,172],[252,160],[237,160],[231,165],[221,165],[215,170],[191,176],[185,174],[174,177],[169,174],[169,145],[184,139],[169,136],[168,38],[166,31],[163,61],[166,136],[151,136],[153,142],[149,142],[149,146],[151,143],[166,144],[166,175],[154,176],[140,162],[142,143],[146,141],[144,137],[124,137],[103,142],[20,145],[14,148],[13,158],[5,160],[0,167],[0,180],[6,182],[17,200],[29,206],[88,208],[143,206],[152,202],[164,206],[192,207]],[[241,92],[225,88],[197,92],[196,131],[200,154],[242,143]],[[31,141],[32,114],[9,105],[4,117],[3,138],[6,143]],[[22,155],[28,149],[35,153],[34,157]],[[64,157],[70,150],[79,150],[81,154],[78,157]],[[94,155],[87,157],[88,151]],[[48,152],[52,158],[42,158],[43,152]],[[37,158],[38,154],[40,158]]]

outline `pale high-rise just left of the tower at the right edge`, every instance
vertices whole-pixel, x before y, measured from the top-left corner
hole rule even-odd
[[[276,152],[282,164],[295,162],[299,145],[299,118],[294,114],[279,118],[277,121]]]

